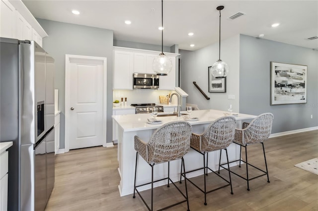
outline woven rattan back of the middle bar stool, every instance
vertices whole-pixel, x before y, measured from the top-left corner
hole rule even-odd
[[[210,152],[227,148],[234,140],[235,126],[234,117],[225,116],[216,119],[201,135],[201,146],[196,146],[195,149]],[[191,141],[191,147],[195,143]]]

